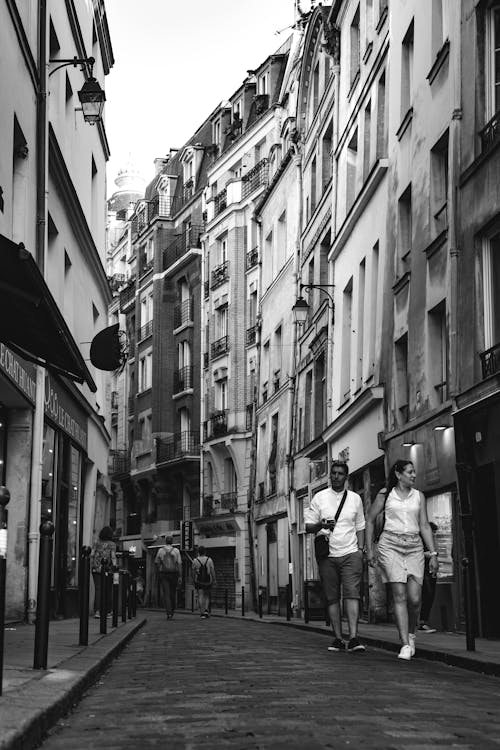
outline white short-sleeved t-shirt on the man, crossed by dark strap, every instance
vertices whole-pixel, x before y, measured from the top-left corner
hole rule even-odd
[[[323,518],[335,518],[344,490],[335,492],[331,487],[317,492],[309,508],[304,511],[305,523],[319,523]],[[347,491],[344,507],[340,512],[337,524],[332,532],[321,529],[318,534],[329,536],[330,557],[343,557],[358,550],[357,531],[365,528],[365,514],[360,496],[351,490]]]

